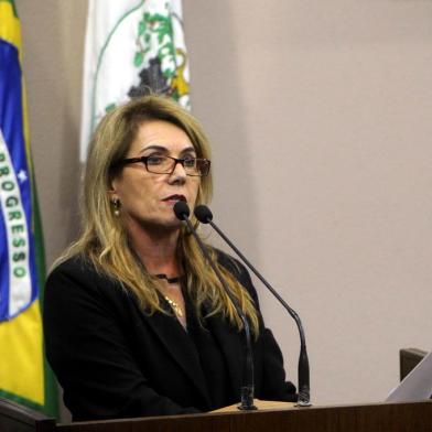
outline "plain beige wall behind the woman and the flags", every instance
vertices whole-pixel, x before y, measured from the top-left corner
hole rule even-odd
[[[314,401],[381,400],[432,334],[432,1],[183,4],[217,220],[303,317]],[[86,6],[17,0],[48,263],[77,234]]]

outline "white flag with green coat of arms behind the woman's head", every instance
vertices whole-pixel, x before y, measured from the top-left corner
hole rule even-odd
[[[190,108],[181,0],[89,0],[80,160],[98,121],[151,89]]]

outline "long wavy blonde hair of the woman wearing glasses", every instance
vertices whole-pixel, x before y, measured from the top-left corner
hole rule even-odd
[[[190,112],[171,99],[145,96],[108,112],[99,122],[89,147],[82,197],[82,235],[57,259],[54,267],[74,256],[83,256],[93,262],[98,272],[119,280],[123,289],[136,294],[140,306],[152,314],[155,311],[166,313],[160,303],[158,279],[137,258],[120,218],[114,215],[108,193],[112,179],[118,175],[117,169],[112,166],[126,158],[138,128],[148,120],[164,120],[177,126],[188,136],[197,158],[210,159],[209,144],[202,127]],[[212,192],[209,173],[201,177],[196,205],[207,204]],[[194,217],[192,222],[195,227],[198,226]],[[217,262],[217,252],[212,247],[208,250]],[[222,314],[240,331],[242,322],[236,309],[186,227],[181,228],[177,259],[186,274],[186,289],[198,317],[203,317],[201,306],[205,302],[209,306],[206,316]],[[259,320],[253,300],[225,267],[217,266],[257,337]]]

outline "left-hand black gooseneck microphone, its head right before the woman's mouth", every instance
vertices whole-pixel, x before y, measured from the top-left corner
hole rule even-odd
[[[240,317],[244,328],[245,328],[245,338],[246,338],[246,347],[245,347],[245,365],[244,365],[244,374],[242,374],[242,385],[241,385],[241,390],[240,390],[240,404],[237,407],[239,410],[242,411],[251,411],[256,410],[257,407],[253,404],[253,359],[252,359],[252,345],[250,343],[250,327],[249,327],[249,322],[241,311],[240,306],[237,303],[237,300],[234,298],[233,293],[229,290],[229,287],[224,279],[224,277],[220,274],[220,271],[216,267],[216,264],[213,262],[212,258],[208,255],[208,251],[206,247],[203,245],[203,241],[201,240],[199,236],[197,235],[194,226],[192,225],[191,220],[188,219],[188,216],[191,214],[191,210],[188,208],[187,203],[184,201],[179,201],[174,204],[174,214],[177,217],[177,219],[183,220],[193,236],[195,237],[201,251],[203,252],[205,259],[208,261],[210,264],[213,271],[216,273],[217,279],[219,280],[220,284],[224,287],[224,290],[226,291],[229,300],[231,301],[238,316]]]

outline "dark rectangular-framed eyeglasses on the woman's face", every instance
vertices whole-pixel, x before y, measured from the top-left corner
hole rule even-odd
[[[141,156],[122,159],[114,164],[114,168],[128,165],[130,163],[143,163],[147,171],[153,174],[172,174],[180,163],[186,175],[205,176],[210,171],[210,161],[208,159],[185,158],[176,159],[171,156]]]

